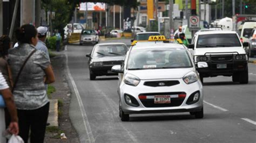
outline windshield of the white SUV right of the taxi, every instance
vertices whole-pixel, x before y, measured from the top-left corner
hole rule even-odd
[[[240,41],[237,34],[207,34],[199,35],[197,48],[213,47],[240,47]]]

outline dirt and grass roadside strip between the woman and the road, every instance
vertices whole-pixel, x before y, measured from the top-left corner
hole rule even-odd
[[[53,72],[55,74],[55,83],[52,83],[56,91],[51,94],[53,102],[51,101],[50,113],[48,121],[50,125],[46,128],[45,140],[44,142],[79,142],[78,134],[69,118],[69,104],[72,96],[68,81],[65,77],[65,55],[64,51],[52,52],[56,54],[54,58],[51,58],[51,65],[53,67]],[[57,108],[57,104],[58,108]],[[57,112],[57,113],[56,113]],[[50,120],[53,120],[50,121]],[[58,119],[58,123],[56,123]],[[60,139],[60,134],[65,133],[67,139]]]

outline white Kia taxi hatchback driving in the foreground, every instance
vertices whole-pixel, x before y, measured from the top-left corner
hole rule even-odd
[[[207,63],[199,62],[198,66],[205,68]],[[119,73],[122,121],[136,113],[190,112],[203,118],[203,86],[184,45],[135,45],[124,64],[113,66],[112,71]]]

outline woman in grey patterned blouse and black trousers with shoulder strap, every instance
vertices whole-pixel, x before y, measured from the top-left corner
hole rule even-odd
[[[55,81],[45,52],[35,48],[37,29],[30,24],[15,31],[19,46],[9,50],[8,63],[14,78],[14,101],[19,118],[19,135],[24,142],[44,142],[49,99],[45,84]],[[30,135],[29,135],[30,132]]]

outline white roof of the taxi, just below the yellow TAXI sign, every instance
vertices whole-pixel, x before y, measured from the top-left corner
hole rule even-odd
[[[147,44],[143,44],[143,45],[134,45],[132,47],[132,50],[133,49],[149,49],[149,48],[183,48],[183,49],[186,49],[181,44],[173,44],[173,43],[156,43],[156,44],[152,44],[152,42],[151,42],[151,43],[147,43]]]

